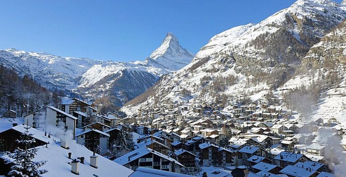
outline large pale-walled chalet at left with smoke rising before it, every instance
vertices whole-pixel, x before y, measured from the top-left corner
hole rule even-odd
[[[55,127],[72,130],[73,136],[77,121],[78,118],[53,106],[45,106],[24,116],[25,125],[45,132],[53,132],[52,128]]]

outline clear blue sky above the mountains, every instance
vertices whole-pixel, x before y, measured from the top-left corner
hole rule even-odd
[[[196,53],[217,33],[260,22],[294,1],[1,0],[0,49],[143,60],[172,32]]]

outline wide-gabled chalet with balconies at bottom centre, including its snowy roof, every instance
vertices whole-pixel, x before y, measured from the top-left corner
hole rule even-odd
[[[138,148],[113,161],[133,170],[146,167],[180,173],[181,168],[185,167],[179,161],[146,147]]]

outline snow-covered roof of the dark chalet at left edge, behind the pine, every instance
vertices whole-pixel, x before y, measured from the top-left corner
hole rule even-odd
[[[26,129],[26,128],[28,128],[28,129]],[[9,129],[16,130],[16,131],[19,131],[21,133],[24,133],[26,130],[28,130],[29,134],[32,134],[31,137],[38,139],[40,141],[46,142],[46,143],[48,143],[48,142],[54,143],[54,140],[60,141],[60,139],[57,137],[51,136],[50,138],[48,138],[48,134],[47,134],[47,136],[45,136],[43,131],[40,131],[40,130],[37,130],[35,128],[31,128],[30,126],[26,126],[26,125],[22,125],[22,124],[11,127]]]

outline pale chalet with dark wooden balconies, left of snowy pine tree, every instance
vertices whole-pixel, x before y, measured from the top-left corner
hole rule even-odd
[[[77,143],[85,146],[91,151],[96,151],[100,145],[102,151],[107,151],[109,134],[96,129],[90,129],[76,135]]]

